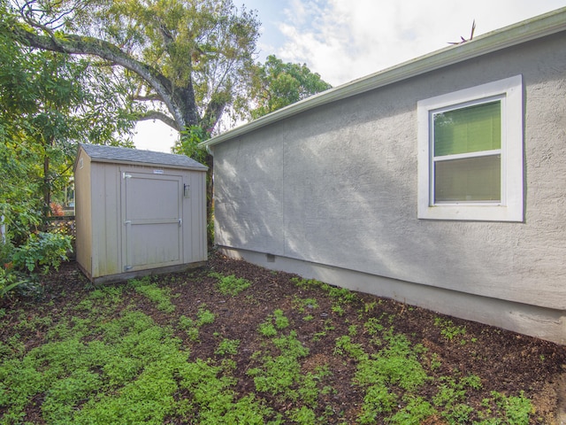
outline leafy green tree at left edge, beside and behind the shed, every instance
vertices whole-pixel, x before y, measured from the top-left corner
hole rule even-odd
[[[0,2],[0,27],[11,23]],[[0,63],[0,215],[19,244],[42,227],[51,201],[62,200],[76,143],[120,143],[117,134],[131,132],[135,110],[123,107],[126,90],[99,66],[23,48],[2,31]]]

